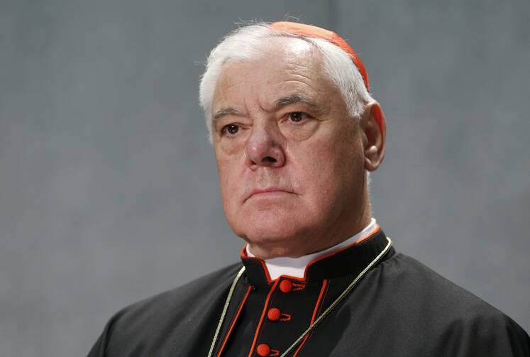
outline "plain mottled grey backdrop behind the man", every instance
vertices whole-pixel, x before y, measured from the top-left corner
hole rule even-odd
[[[83,356],[238,260],[197,104],[238,19],[337,31],[388,121],[375,217],[530,329],[529,1],[0,1],[0,356]]]

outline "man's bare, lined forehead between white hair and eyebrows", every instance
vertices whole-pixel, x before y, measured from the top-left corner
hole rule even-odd
[[[213,111],[219,106],[259,102],[264,108],[278,97],[300,92],[315,100],[334,90],[324,75],[321,53],[299,38],[275,37],[253,60],[228,60],[216,83]]]

